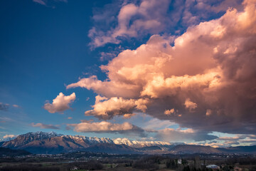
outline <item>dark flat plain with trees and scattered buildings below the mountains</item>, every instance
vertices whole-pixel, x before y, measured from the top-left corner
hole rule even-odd
[[[68,171],[68,170],[256,170],[255,155],[109,155],[74,152],[60,155],[26,155],[0,157],[1,171]]]

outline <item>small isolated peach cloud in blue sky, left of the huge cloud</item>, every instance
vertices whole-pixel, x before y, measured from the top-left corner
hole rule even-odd
[[[48,110],[49,113],[63,113],[65,110],[70,109],[69,104],[75,100],[75,93],[71,95],[64,95],[60,93],[57,95],[55,99],[53,99],[53,103],[46,103],[43,105],[45,110]]]

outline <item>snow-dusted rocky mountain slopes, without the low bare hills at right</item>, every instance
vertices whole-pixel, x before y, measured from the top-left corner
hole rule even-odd
[[[18,137],[15,138],[14,140],[3,142],[1,147],[24,149],[29,147],[57,148],[57,146],[58,147],[61,146],[63,147],[63,149],[65,149],[65,151],[71,151],[71,150],[79,150],[81,148],[89,147],[90,145],[96,145],[99,143],[127,145],[129,147],[159,146],[161,148],[171,145],[171,143],[169,142],[161,142],[161,141],[136,141],[136,140],[129,140],[127,138],[117,138],[112,140],[110,138],[86,137],[82,135],[62,135],[54,132],[50,132],[50,133],[36,132],[36,133],[26,133],[23,135],[18,135]],[[31,152],[34,152],[34,151],[31,150]]]

